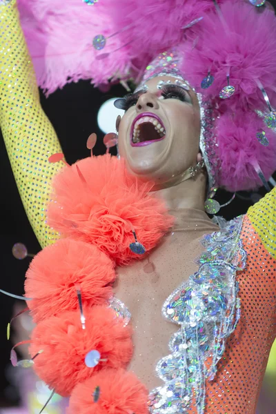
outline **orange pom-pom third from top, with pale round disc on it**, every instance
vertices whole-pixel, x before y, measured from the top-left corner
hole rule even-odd
[[[35,359],[34,371],[64,397],[102,368],[125,367],[132,356],[131,329],[114,311],[93,306],[85,308],[84,315],[86,329],[81,328],[80,313],[74,311],[39,322],[32,333],[31,355],[43,350]],[[88,368],[85,357],[93,350],[103,361]]]

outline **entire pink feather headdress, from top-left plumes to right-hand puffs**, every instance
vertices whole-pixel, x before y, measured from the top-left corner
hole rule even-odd
[[[39,85],[50,93],[79,79],[138,83],[160,70],[157,55],[177,48],[177,73],[201,101],[211,187],[261,186],[276,170],[276,18],[268,1],[92,3],[19,0]]]

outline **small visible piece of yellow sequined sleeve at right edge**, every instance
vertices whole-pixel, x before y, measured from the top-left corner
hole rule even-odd
[[[276,259],[276,188],[250,207],[247,214],[264,247]]]

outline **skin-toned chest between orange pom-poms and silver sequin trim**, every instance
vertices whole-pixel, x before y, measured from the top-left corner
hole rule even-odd
[[[193,235],[170,233],[150,255],[117,269],[114,293],[128,307],[134,328],[129,369],[148,388],[161,384],[155,365],[168,354],[168,342],[178,329],[164,318],[162,306],[170,293],[197,270],[195,259],[203,250],[201,237],[200,231]]]

